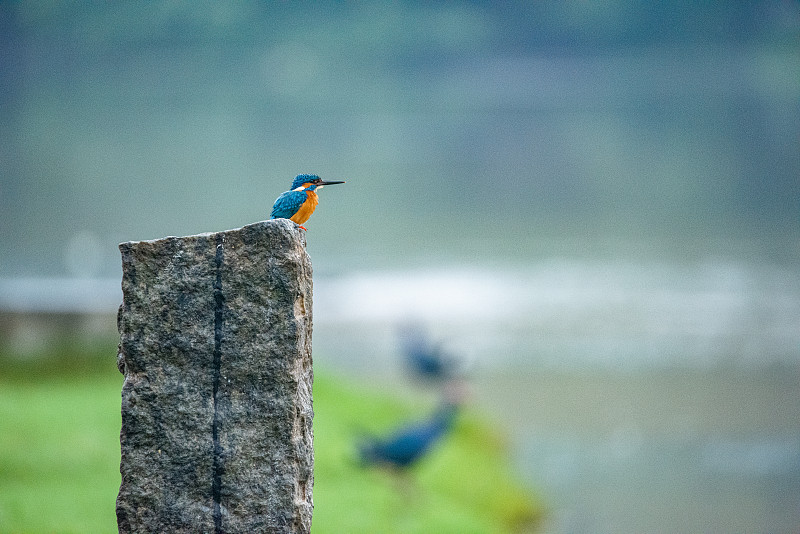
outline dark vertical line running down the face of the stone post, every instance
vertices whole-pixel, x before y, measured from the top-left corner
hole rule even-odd
[[[222,262],[223,262],[223,248],[224,238],[221,234],[217,234],[216,245],[217,251],[214,257],[216,267],[216,280],[214,281],[214,385],[213,385],[213,403],[214,403],[214,420],[212,423],[212,442],[214,445],[214,461],[212,466],[212,482],[211,482],[211,496],[214,502],[214,532],[220,534],[222,532],[222,446],[219,441],[219,426],[220,426],[220,413],[218,409],[217,395],[219,393],[220,383],[220,368],[222,365],[222,323],[223,311],[225,308],[225,295],[222,293]]]

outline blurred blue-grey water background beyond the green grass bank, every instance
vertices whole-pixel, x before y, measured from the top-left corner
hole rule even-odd
[[[541,531],[800,527],[796,1],[3,2],[0,139],[6,377],[310,172],[315,367],[424,325]]]

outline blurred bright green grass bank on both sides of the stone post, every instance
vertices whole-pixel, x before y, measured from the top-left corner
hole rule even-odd
[[[115,532],[120,388],[113,345],[0,352],[0,532]],[[404,474],[358,465],[356,441],[432,405],[317,371],[315,534],[531,532],[543,507],[502,437],[470,410]]]

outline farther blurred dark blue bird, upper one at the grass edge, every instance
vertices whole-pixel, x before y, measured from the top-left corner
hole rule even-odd
[[[446,382],[455,377],[461,362],[448,355],[442,344],[434,344],[419,325],[407,323],[398,329],[400,348],[408,370],[417,378]]]

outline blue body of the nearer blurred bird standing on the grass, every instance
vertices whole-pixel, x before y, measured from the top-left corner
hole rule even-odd
[[[361,462],[397,469],[410,467],[452,428],[458,408],[458,404],[444,402],[427,421],[400,428],[385,439],[361,443]]]

